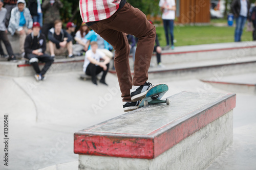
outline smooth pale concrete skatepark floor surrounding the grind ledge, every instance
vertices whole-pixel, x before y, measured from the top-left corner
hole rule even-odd
[[[44,82],[36,82],[33,77],[0,76],[0,122],[3,125],[4,115],[9,115],[10,138],[8,167],[1,161],[0,169],[40,169],[77,161],[74,132],[124,113],[115,75],[107,76],[107,87],[79,80],[79,74],[50,74]],[[166,83],[169,91],[165,96],[183,90],[228,92],[197,79],[148,81]],[[233,144],[207,169],[255,169],[255,103],[255,95],[237,93]],[[0,136],[3,140],[3,130]],[[1,142],[1,155],[3,147]]]

